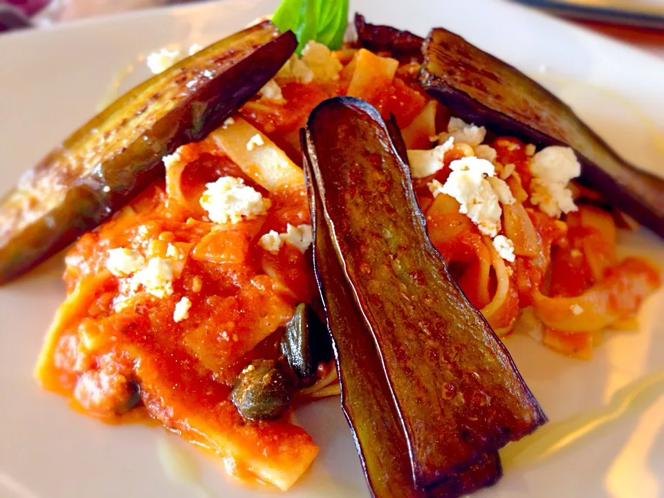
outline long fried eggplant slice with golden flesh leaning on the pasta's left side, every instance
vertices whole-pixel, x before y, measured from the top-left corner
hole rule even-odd
[[[0,283],[99,225],[254,95],[297,40],[266,21],[136,86],[84,124],[0,201]]]

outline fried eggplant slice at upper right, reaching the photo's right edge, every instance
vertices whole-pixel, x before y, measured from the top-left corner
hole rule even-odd
[[[535,145],[569,145],[584,182],[664,237],[664,181],[625,162],[555,95],[443,28],[423,51],[421,84],[455,116]]]

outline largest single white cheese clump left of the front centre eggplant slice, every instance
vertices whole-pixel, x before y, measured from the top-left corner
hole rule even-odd
[[[270,199],[264,199],[260,192],[245,185],[242,178],[222,176],[205,187],[201,206],[214,223],[238,223],[243,218],[265,214],[270,208]]]

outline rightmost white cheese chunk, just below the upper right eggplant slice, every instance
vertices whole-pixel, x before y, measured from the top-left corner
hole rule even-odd
[[[567,184],[581,174],[581,165],[569,147],[552,145],[537,152],[531,159],[531,203],[554,218],[576,211],[572,192]]]

